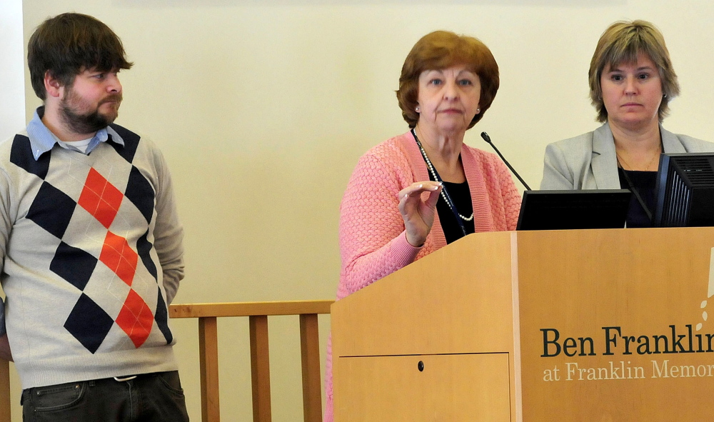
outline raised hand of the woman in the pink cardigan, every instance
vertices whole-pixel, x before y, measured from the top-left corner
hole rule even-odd
[[[426,200],[421,194],[428,192]],[[399,191],[399,212],[404,219],[406,240],[411,246],[422,246],[431,231],[436,213],[436,201],[441,194],[441,183],[418,181]]]

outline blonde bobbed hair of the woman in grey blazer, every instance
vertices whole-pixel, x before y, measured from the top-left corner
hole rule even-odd
[[[608,121],[608,111],[603,103],[603,89],[600,86],[600,76],[605,66],[609,65],[611,69],[620,64],[636,63],[640,53],[649,56],[660,75],[663,94],[658,110],[660,122],[668,115],[669,101],[679,95],[679,82],[662,33],[648,21],[618,21],[605,29],[600,36],[588,72],[590,101],[598,111],[597,120],[601,123]]]

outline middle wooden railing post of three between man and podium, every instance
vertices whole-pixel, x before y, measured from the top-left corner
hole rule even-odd
[[[251,331],[253,422],[271,422],[268,316],[249,316],[248,325]]]

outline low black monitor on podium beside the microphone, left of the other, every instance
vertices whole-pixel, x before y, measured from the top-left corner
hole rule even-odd
[[[628,189],[525,191],[516,230],[623,228],[631,196]]]

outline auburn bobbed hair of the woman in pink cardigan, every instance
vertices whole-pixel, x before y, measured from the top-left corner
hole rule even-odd
[[[473,116],[468,129],[481,120],[491,107],[500,84],[498,64],[491,50],[473,36],[434,31],[416,41],[406,56],[399,76],[397,99],[402,116],[410,128],[414,128],[419,121],[419,114],[415,110],[418,106],[419,75],[423,71],[442,70],[456,65],[466,66],[481,81],[481,99],[478,102],[481,112]]]

